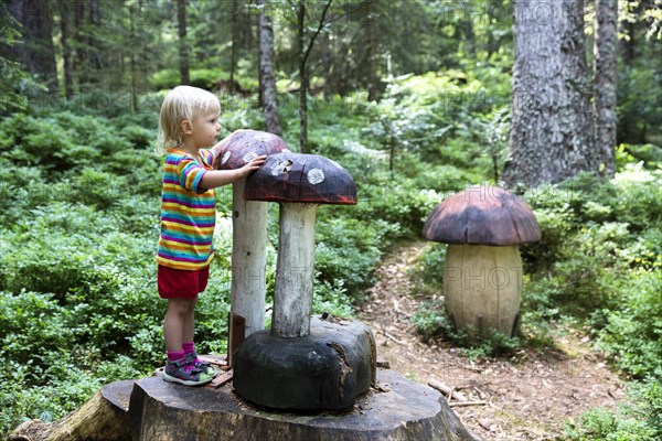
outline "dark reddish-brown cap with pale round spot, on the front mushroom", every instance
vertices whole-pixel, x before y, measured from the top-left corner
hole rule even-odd
[[[270,155],[246,180],[246,201],[356,204],[352,175],[338,162],[317,154]]]

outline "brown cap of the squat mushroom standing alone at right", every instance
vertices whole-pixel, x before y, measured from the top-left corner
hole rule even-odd
[[[441,202],[428,216],[423,235],[446,244],[519,245],[541,239],[528,205],[498,186],[476,186]]]

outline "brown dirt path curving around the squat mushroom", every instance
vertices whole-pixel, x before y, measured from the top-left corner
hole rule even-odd
[[[554,440],[568,420],[624,396],[623,383],[590,347],[586,333],[559,330],[552,347],[515,349],[505,358],[472,362],[445,341],[424,342],[412,316],[420,301],[407,270],[425,243],[393,249],[377,268],[378,281],[359,310],[391,369],[427,384],[437,380],[484,405],[453,407],[465,427],[484,440]],[[452,402],[457,399],[451,399]]]

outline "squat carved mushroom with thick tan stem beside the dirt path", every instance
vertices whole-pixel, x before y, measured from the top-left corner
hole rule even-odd
[[[538,241],[528,205],[498,186],[477,186],[441,202],[423,228],[426,239],[450,244],[444,270],[446,308],[470,336],[490,329],[517,331],[522,259],[517,246]]]

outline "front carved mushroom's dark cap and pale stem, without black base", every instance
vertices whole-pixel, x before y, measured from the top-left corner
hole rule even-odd
[[[354,180],[338,162],[284,152],[246,181],[247,201],[280,203],[280,234],[271,333],[308,335],[314,279],[314,219],[320,204],[356,204]]]

